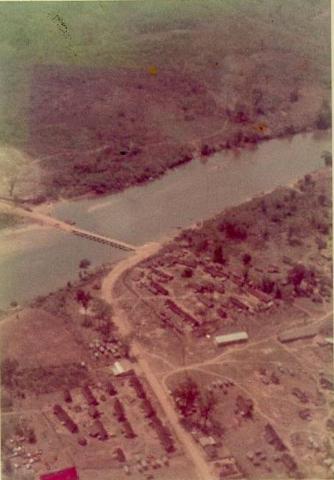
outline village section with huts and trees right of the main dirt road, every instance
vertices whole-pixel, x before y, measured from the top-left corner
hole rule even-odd
[[[312,462],[319,478],[334,471],[329,187],[324,169],[254,199],[182,232],[119,282],[180,422],[209,462],[228,465],[221,478],[303,478]],[[305,218],[314,201],[318,223]],[[270,242],[245,226],[256,211]]]

